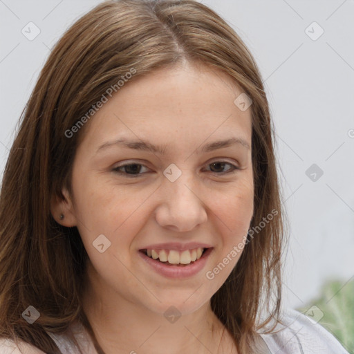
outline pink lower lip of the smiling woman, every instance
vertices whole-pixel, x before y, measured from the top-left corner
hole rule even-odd
[[[202,254],[202,257],[198,259],[198,261],[194,261],[188,265],[169,265],[166,264],[167,262],[162,263],[156,259],[152,259],[140,251],[138,251],[138,254],[140,257],[142,257],[142,259],[144,259],[145,262],[151,265],[151,268],[158,272],[158,274],[161,274],[167,278],[180,279],[193,277],[194,275],[198,274],[198,272],[204,268],[212,250],[212,248],[208,248]]]

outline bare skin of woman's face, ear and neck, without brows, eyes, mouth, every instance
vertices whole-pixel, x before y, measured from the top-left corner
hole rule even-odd
[[[77,226],[82,237],[90,259],[84,309],[105,353],[236,353],[228,333],[221,340],[223,326],[210,299],[239,260],[241,252],[230,252],[250,227],[251,149],[236,144],[199,151],[232,137],[251,146],[251,111],[234,104],[240,93],[227,75],[207,66],[164,68],[127,82],[86,123],[73,195],[63,189],[66,200],[53,202],[52,214],[62,225]],[[123,136],[165,146],[166,153],[118,145],[96,153]],[[227,164],[212,165],[220,161]],[[127,163],[143,165],[138,177],[129,177],[129,168],[113,171]],[[182,172],[174,182],[163,174],[172,163]],[[111,242],[103,253],[93,247],[100,234]],[[214,249],[189,279],[162,277],[138,257],[152,243],[192,241]],[[207,279],[227,254],[231,261]],[[181,314],[173,324],[163,315],[169,306]]]

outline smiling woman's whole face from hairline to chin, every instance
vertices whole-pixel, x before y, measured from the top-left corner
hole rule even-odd
[[[86,123],[73,195],[64,190],[60,222],[77,226],[93,288],[160,314],[209,301],[253,214],[251,109],[243,96],[234,103],[243,91],[229,77],[202,68],[159,69],[120,88]],[[193,261],[198,248],[208,250]]]

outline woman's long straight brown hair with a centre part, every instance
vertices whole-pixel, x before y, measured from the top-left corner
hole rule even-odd
[[[104,1],[53,48],[8,156],[0,196],[1,337],[60,353],[48,333],[66,333],[80,320],[97,342],[81,302],[88,255],[77,228],[59,225],[50,214],[50,198],[64,198],[64,186],[71,192],[73,159],[84,134],[80,129],[67,138],[66,131],[132,68],[134,80],[183,60],[226,73],[252,98],[251,226],[277,211],[257,236],[248,234],[241,258],[211,299],[212,309],[240,353],[252,352],[257,329],[279,321],[283,218],[274,128],[257,64],[234,30],[197,1]],[[40,313],[31,325],[21,316],[28,306]],[[264,308],[268,317],[258,324]]]

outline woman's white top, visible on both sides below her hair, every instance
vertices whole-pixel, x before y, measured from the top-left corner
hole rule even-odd
[[[324,327],[314,323],[297,310],[290,308],[283,311],[283,322],[286,327],[278,333],[260,334],[262,354],[349,354],[337,339]],[[283,326],[278,324],[275,330]],[[76,329],[77,328],[77,329]],[[73,344],[64,335],[48,333],[56,342],[62,354],[77,354]],[[97,354],[88,333],[79,325],[75,327],[75,337],[80,343],[83,353]],[[263,340],[262,340],[263,339]],[[19,348],[9,339],[0,339],[1,354],[43,354],[44,352],[30,344],[21,344]]]

